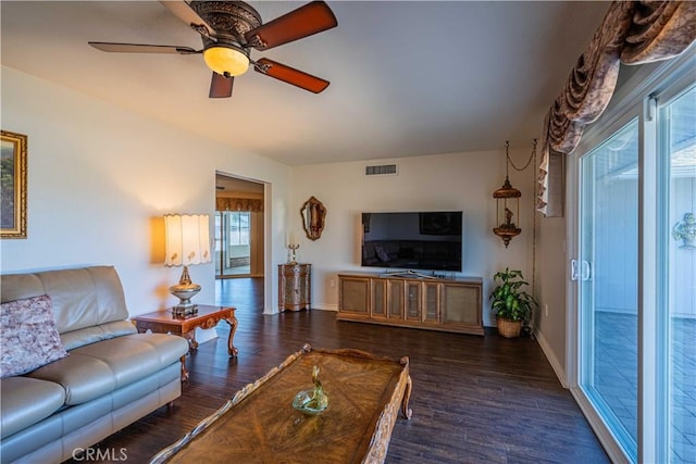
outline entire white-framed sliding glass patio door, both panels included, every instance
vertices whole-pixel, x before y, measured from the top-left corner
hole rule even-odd
[[[570,384],[614,462],[696,463],[695,65],[636,73],[573,153]]]

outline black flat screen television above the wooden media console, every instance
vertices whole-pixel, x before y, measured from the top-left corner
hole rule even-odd
[[[361,265],[462,269],[462,212],[362,213]]]

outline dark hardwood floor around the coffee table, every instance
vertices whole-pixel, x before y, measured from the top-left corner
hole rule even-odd
[[[399,416],[387,463],[609,462],[570,392],[530,338],[337,322],[333,312],[316,310],[264,316],[258,280],[232,279],[222,287],[217,303],[238,308],[239,356],[228,358],[228,329],[221,323],[220,338],[189,355],[190,380],[174,407],[157,410],[95,449],[124,449],[128,462],[147,462],[235,391],[309,342],[410,358],[413,417]]]

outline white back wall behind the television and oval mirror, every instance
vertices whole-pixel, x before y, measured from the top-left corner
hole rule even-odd
[[[501,140],[504,146],[504,140]],[[524,164],[531,147],[510,151],[518,165]],[[366,164],[398,164],[397,176],[364,176]],[[484,278],[484,324],[490,317],[488,293],[493,274],[506,266],[522,269],[532,279],[532,188],[533,170],[517,173],[510,181],[522,191],[522,234],[508,249],[493,234],[496,203],[493,191],[505,180],[505,149],[485,152],[426,155],[351,163],[316,164],[293,171],[293,230],[299,240],[297,258],[312,264],[312,306],[336,310],[336,275],[345,271],[375,272],[360,267],[360,213],[363,211],[458,211],[464,213],[463,272]],[[322,237],[307,239],[299,210],[311,196],[326,206]]]

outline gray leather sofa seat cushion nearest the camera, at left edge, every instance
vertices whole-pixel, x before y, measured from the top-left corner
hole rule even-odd
[[[63,387],[36,378],[5,378],[0,380],[0,439],[50,416],[65,401]]]

